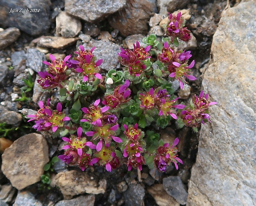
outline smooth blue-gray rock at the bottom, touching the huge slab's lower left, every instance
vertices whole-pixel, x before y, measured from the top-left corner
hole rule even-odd
[[[170,176],[163,179],[164,190],[168,195],[177,200],[179,204],[185,205],[187,202],[187,191],[180,177]]]

